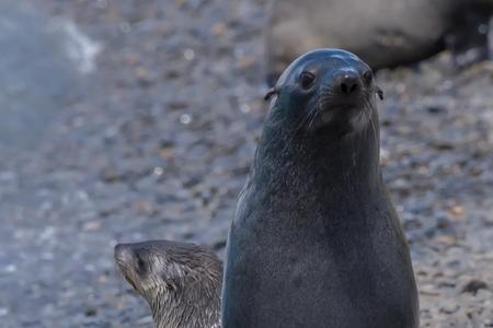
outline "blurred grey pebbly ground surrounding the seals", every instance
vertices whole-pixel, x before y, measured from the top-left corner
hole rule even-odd
[[[117,242],[226,243],[266,105],[257,0],[0,4],[0,323],[151,327]],[[43,40],[43,42],[41,42]],[[493,66],[382,71],[423,327],[493,327]]]

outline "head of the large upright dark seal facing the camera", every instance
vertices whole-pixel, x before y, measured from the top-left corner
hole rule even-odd
[[[277,95],[276,107],[283,108],[279,116],[286,126],[348,133],[369,121],[375,94],[383,98],[371,69],[358,57],[318,49],[295,60],[265,97]]]

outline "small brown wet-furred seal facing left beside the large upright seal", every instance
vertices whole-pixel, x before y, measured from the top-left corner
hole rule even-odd
[[[157,328],[219,328],[222,263],[194,244],[150,241],[115,246],[125,279],[149,303]]]

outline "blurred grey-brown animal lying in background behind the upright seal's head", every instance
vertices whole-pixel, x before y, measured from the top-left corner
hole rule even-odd
[[[314,48],[347,49],[374,70],[417,62],[446,48],[461,68],[489,58],[492,0],[273,0],[271,84]]]

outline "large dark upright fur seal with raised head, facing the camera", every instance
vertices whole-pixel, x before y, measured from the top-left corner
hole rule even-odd
[[[318,49],[272,101],[231,224],[221,317],[233,327],[417,328],[410,253],[382,183],[370,68]]]

